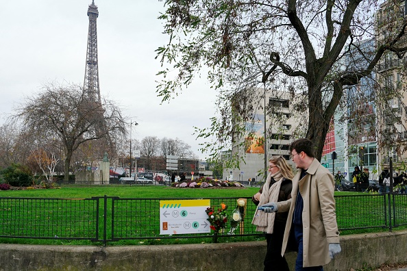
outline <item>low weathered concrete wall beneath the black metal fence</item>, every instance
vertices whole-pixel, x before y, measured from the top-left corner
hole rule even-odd
[[[341,237],[342,253],[325,271],[407,262],[407,231]],[[0,270],[262,270],[266,243],[165,246],[0,245]],[[295,253],[287,253],[293,266]]]

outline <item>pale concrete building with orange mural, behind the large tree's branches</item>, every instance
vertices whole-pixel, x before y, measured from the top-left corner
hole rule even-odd
[[[298,125],[293,116],[290,94],[271,90],[264,92],[261,88],[254,91],[258,99],[253,105],[252,118],[243,124],[245,133],[236,140],[231,152],[223,153],[225,159],[238,157],[240,164],[238,168],[224,167],[223,179],[248,181],[250,178],[251,181],[264,181],[264,159],[267,166],[268,159],[273,155],[290,160],[288,147]]]

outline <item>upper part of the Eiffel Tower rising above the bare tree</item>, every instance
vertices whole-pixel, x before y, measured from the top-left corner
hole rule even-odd
[[[86,67],[84,90],[88,92],[88,98],[95,102],[101,102],[99,88],[99,67],[97,64],[97,29],[96,20],[99,16],[95,0],[88,8],[89,30],[88,30],[88,48],[86,49]]]

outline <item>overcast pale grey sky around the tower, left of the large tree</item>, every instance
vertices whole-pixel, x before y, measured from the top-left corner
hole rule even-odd
[[[91,0],[0,0],[1,121],[25,96],[49,82],[83,86],[88,5]],[[214,90],[196,81],[180,96],[160,105],[154,52],[166,44],[164,1],[96,0],[101,95],[116,101],[138,126],[132,138],[180,138],[200,158],[193,126],[208,127],[214,116]],[[130,121],[130,119],[129,119]],[[130,123],[129,123],[130,127]]]

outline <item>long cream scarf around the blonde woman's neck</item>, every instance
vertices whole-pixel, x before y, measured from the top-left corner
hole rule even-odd
[[[273,177],[275,183],[270,187],[271,177]],[[278,195],[280,194],[281,183],[284,180],[280,170],[267,177],[266,183],[263,185],[263,191],[260,196],[260,202],[258,206],[266,203],[277,203]],[[263,231],[265,233],[273,233],[275,213],[264,213],[256,209],[254,218],[251,224],[256,225],[256,231]]]

